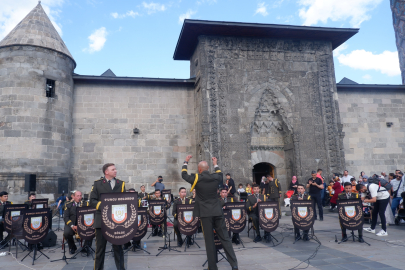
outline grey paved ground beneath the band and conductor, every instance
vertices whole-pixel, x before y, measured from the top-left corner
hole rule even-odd
[[[284,209],[287,210],[287,209]],[[56,222],[55,222],[56,223]],[[366,225],[367,226],[367,225]],[[54,224],[54,228],[57,224]],[[380,227],[377,226],[377,230]],[[172,228],[169,232],[173,231]],[[50,260],[62,258],[61,240],[62,232],[56,232],[58,235],[58,246],[45,248],[44,253],[50,257]],[[315,236],[320,241],[310,242],[299,241],[293,244],[291,217],[283,216],[280,220],[280,226],[273,235],[279,241],[277,246],[272,247],[268,243],[254,243],[253,235],[248,237],[246,230],[241,234],[245,248],[241,245],[234,246],[239,261],[239,269],[405,269],[405,224],[401,226],[389,226],[387,237],[377,237],[373,234],[364,233],[364,239],[371,244],[360,244],[359,242],[346,242],[337,244],[335,235],[340,238],[340,229],[336,213],[325,214],[323,222],[315,223]],[[197,237],[198,248],[192,246],[186,252],[184,248],[179,248],[181,252],[164,251],[159,257],[155,255],[158,247],[162,246],[163,239],[159,237],[150,237],[145,240],[148,255],[143,251],[129,252],[125,255],[125,265],[127,269],[203,269],[202,264],[206,260],[205,247],[202,234]],[[143,242],[142,242],[143,245]],[[94,248],[94,244],[93,244]],[[109,250],[109,248],[107,248]],[[15,248],[12,253],[15,256]],[[93,269],[93,260],[91,257],[82,257],[78,255],[76,260],[64,262],[50,262],[45,257],[40,257],[31,265],[29,257],[21,262],[27,252],[18,255],[18,260],[10,255],[0,257],[0,269],[6,270],[26,270],[26,269],[49,269],[49,270],[90,270]],[[309,260],[308,265],[308,258]],[[300,264],[301,263],[301,264]],[[24,265],[23,265],[24,264]],[[300,264],[300,265],[299,265]],[[218,263],[220,270],[230,269],[229,264],[223,260]],[[111,254],[106,255],[105,269],[116,269]]]

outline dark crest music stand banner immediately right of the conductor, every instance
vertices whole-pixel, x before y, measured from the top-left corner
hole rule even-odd
[[[225,222],[229,223],[229,231],[233,233],[241,233],[246,226],[246,203],[233,202],[226,203],[225,209],[229,210],[228,215],[225,216]],[[224,211],[225,212],[225,211]]]

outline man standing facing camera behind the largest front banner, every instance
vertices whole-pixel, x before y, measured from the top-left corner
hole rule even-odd
[[[90,206],[96,208],[94,228],[96,229],[96,257],[94,259],[94,270],[104,269],[105,247],[107,240],[101,232],[101,211],[99,209],[101,193],[119,193],[126,192],[125,182],[115,178],[117,170],[113,163],[107,163],[103,166],[104,177],[94,181],[94,187],[90,194]],[[125,270],[124,252],[121,245],[112,245],[114,249],[115,266],[118,270]]]

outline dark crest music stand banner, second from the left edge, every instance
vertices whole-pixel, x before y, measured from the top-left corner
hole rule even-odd
[[[29,244],[42,242],[49,231],[49,209],[24,210],[23,237]]]

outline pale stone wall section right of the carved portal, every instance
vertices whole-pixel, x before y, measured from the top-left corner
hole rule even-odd
[[[356,178],[405,170],[405,95],[392,86],[338,87],[346,169]],[[387,127],[387,122],[392,122]]]

